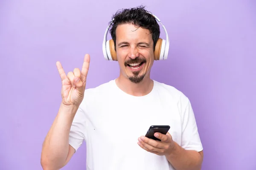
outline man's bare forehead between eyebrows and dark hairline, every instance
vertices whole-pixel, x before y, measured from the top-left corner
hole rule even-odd
[[[134,24],[124,23],[119,24],[116,27],[116,42],[128,41],[128,42],[139,42],[152,40],[152,34],[150,31]]]

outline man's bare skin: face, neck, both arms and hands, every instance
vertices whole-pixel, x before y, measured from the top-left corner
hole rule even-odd
[[[153,40],[149,31],[133,24],[122,24],[116,28],[116,53],[120,75],[116,85],[124,92],[134,96],[144,96],[153,88],[150,70],[154,62]],[[131,71],[125,63],[140,59],[142,69]],[[62,102],[55,120],[44,140],[41,152],[41,166],[44,170],[59,170],[72,158],[75,149],[68,143],[70,127],[76,111],[84,98],[90,56],[86,54],[81,71],[75,68],[65,74],[60,62],[56,63],[61,77]],[[143,78],[142,78],[143,77]],[[132,81],[131,81],[132,80]],[[136,83],[133,81],[136,80]],[[138,144],[148,152],[164,155],[176,170],[200,170],[203,151],[184,150],[172,140],[172,136],[155,133],[162,141],[154,141],[145,136],[138,138]]]

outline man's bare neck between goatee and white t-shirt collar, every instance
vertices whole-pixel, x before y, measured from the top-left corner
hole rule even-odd
[[[125,93],[132,96],[145,96],[149,94],[154,86],[154,82],[149,76],[145,76],[140,83],[133,83],[127,77],[120,75],[116,79],[116,85]]]

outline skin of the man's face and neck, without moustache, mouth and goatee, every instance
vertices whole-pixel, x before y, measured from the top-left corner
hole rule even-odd
[[[144,96],[153,88],[153,81],[150,79],[150,70],[154,62],[153,39],[149,31],[138,28],[133,24],[122,24],[116,28],[116,54],[120,67],[119,77],[116,85],[127,94],[134,96]],[[137,77],[145,75],[139,83],[133,83],[129,77],[134,77],[125,62],[130,62],[136,58],[145,60],[143,68]]]

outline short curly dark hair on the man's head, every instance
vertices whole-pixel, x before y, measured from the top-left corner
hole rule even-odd
[[[116,27],[122,23],[132,23],[138,27],[148,29],[150,34],[152,33],[152,39],[154,42],[154,50],[157,40],[160,36],[160,26],[157,20],[151,12],[145,9],[145,6],[138,6],[136,8],[128,8],[118,10],[116,14],[112,16],[110,24],[110,34],[114,41],[116,50]]]

